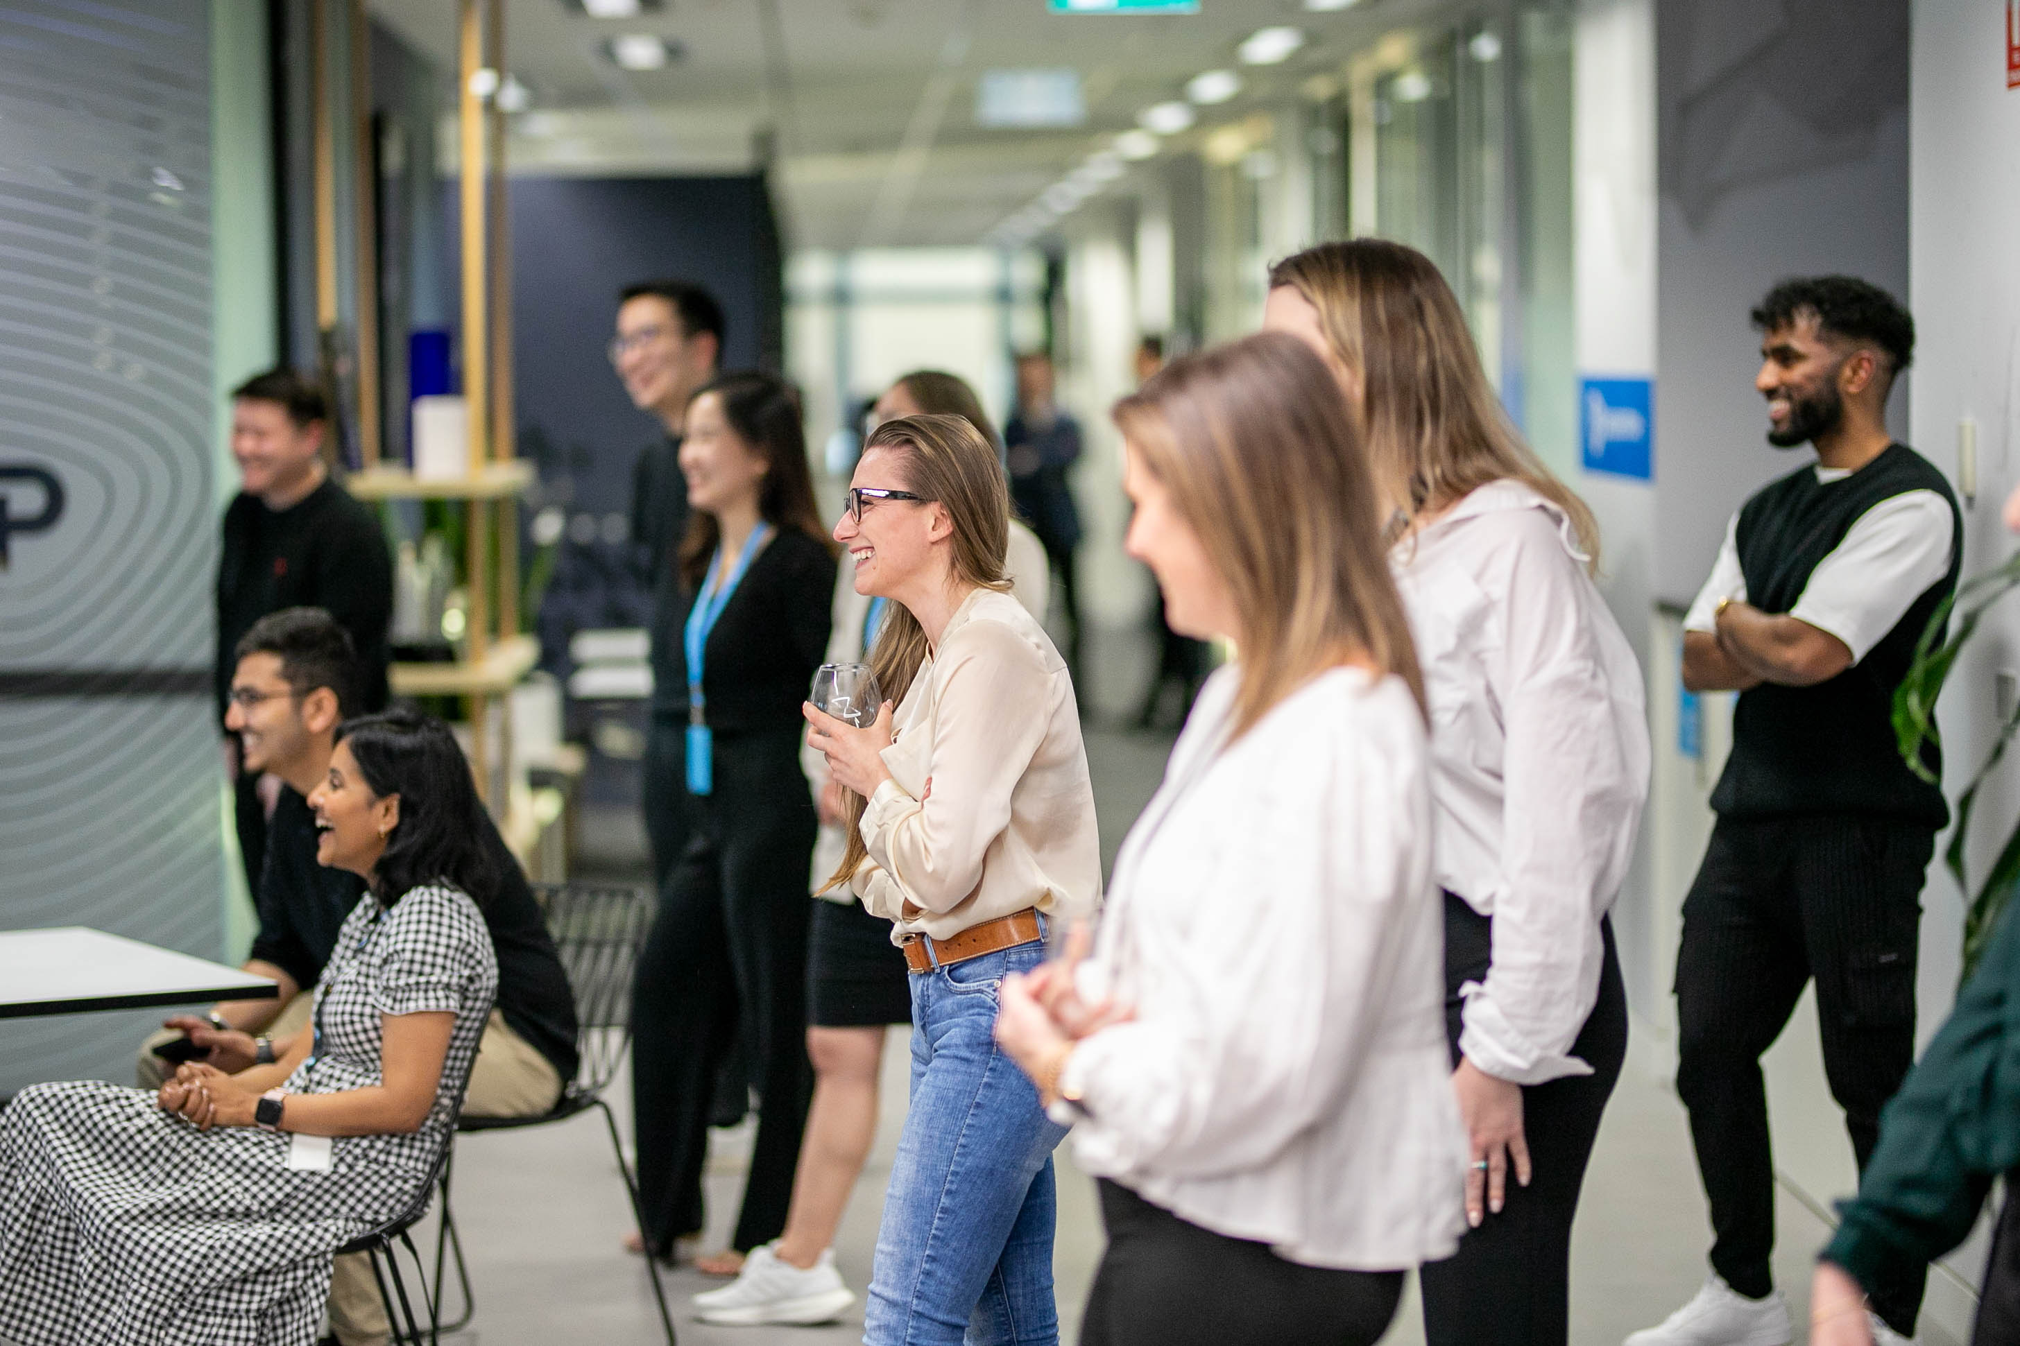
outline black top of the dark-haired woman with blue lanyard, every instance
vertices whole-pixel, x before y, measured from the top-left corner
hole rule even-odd
[[[675,642],[687,630],[693,593],[683,593]],[[800,702],[828,652],[834,601],[834,553],[826,543],[782,529],[758,559],[709,632],[701,694],[717,737],[796,728]],[[656,676],[656,670],[654,670]],[[681,660],[683,702],[687,660]]]

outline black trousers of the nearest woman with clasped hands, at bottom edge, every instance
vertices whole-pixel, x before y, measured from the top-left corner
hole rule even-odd
[[[1402,1271],[1285,1261],[1267,1243],[1188,1225],[1101,1179],[1109,1249],[1081,1346],[1372,1346],[1396,1318]]]

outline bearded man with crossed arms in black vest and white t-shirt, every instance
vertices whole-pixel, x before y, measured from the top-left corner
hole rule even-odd
[[[1753,325],[1768,442],[1812,444],[1816,462],[1733,515],[1683,624],[1683,684],[1739,692],[1677,955],[1677,1094],[1711,1199],[1713,1277],[1630,1346],[1790,1340],[1759,1057],[1814,979],[1824,1072],[1864,1168],[1915,1059],[1921,884],[1947,821],[1891,722],[1915,642],[1957,585],[1961,535],[1949,482],[1887,434],[1915,323],[1864,281],[1818,276],[1778,285]],[[1923,761],[1939,767],[1933,745]],[[1911,1336],[1919,1306],[1919,1271],[1875,1294],[1875,1336]]]

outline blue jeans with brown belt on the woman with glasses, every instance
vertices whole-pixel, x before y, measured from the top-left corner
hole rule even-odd
[[[996,987],[1030,942],[911,975],[911,1112],[891,1164],[867,1346],[1056,1346],[1052,1146],[1067,1134],[996,1047]]]

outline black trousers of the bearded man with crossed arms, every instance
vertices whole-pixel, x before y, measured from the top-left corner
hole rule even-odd
[[[1881,1106],[1915,1061],[1921,882],[1935,831],[1887,817],[1725,819],[1683,902],[1677,1094],[1691,1110],[1711,1199],[1711,1267],[1733,1289],[1774,1289],[1774,1156],[1759,1057],[1816,979],[1830,1096],[1864,1172]],[[1873,1310],[1913,1328],[1921,1269],[1873,1287]]]

